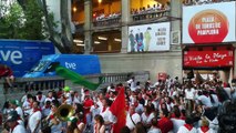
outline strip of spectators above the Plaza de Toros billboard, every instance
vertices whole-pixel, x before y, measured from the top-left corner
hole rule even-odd
[[[205,3],[215,3],[215,2],[228,2],[235,0],[184,0],[183,3],[185,6],[193,6],[193,4],[205,4]]]

